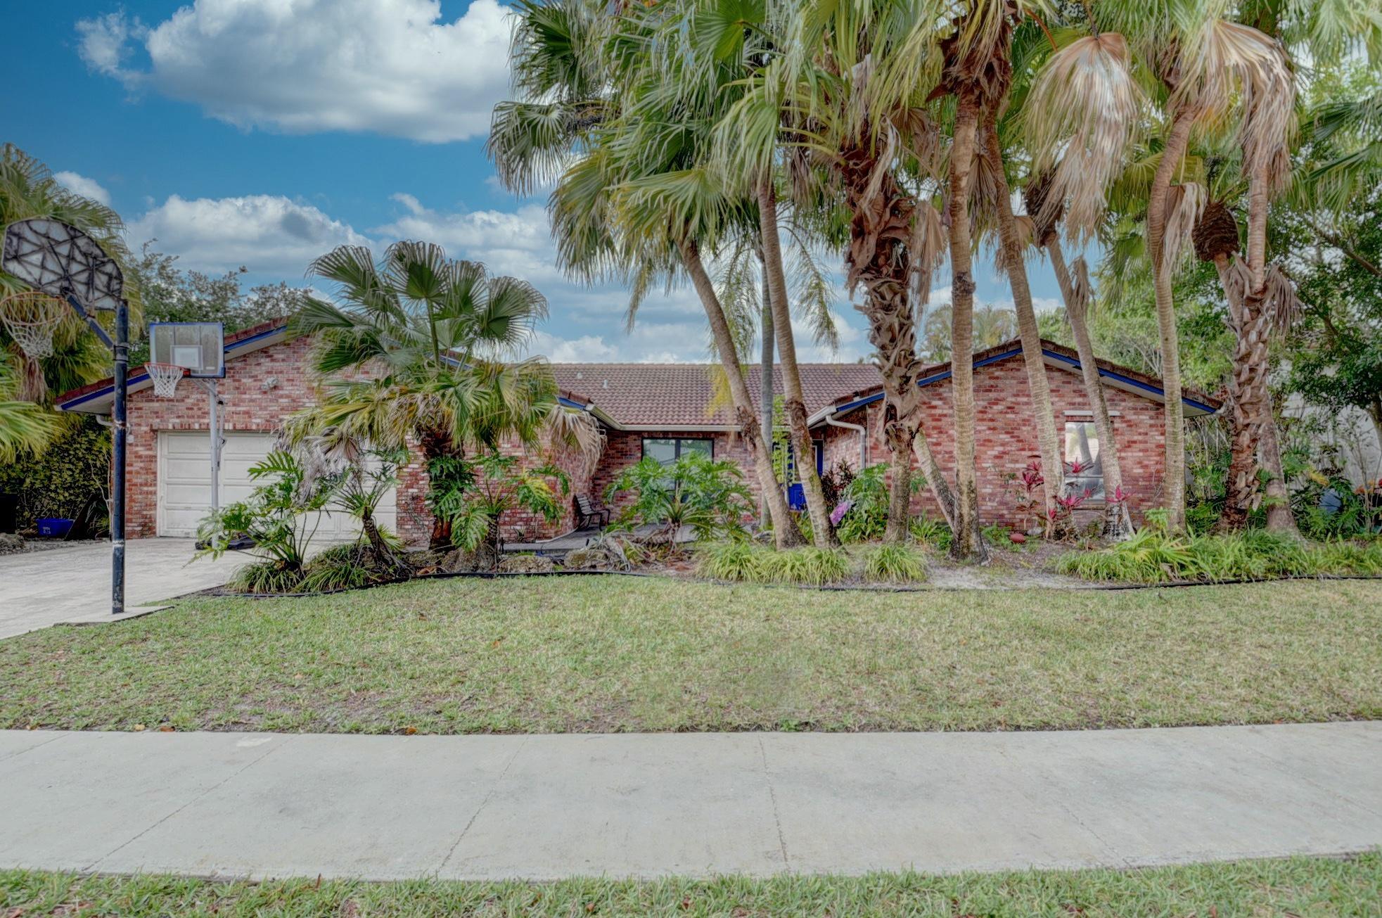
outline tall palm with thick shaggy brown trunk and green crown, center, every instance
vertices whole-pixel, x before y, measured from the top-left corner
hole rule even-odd
[[[708,17],[741,28],[738,17]],[[857,306],[883,377],[883,434],[893,455],[886,536],[907,536],[915,449],[947,516],[952,499],[920,431],[922,364],[915,353],[909,288],[940,260],[941,218],[900,180],[912,162],[934,167],[937,133],[922,113],[938,57],[927,4],[770,4],[746,30],[763,37],[766,61],[719,129],[730,173],[781,163],[797,206],[831,223],[843,199],[849,221],[846,281],[864,288]],[[791,36],[791,40],[771,36]],[[717,47],[716,41],[705,41]],[[933,182],[934,184],[934,182]],[[929,283],[919,283],[922,294]]]

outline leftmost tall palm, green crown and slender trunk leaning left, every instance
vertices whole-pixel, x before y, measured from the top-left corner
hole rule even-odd
[[[495,109],[489,153],[500,178],[527,189],[560,178],[550,200],[553,232],[568,271],[585,279],[630,282],[629,321],[656,281],[690,278],[706,312],[734,402],[739,434],[755,455],[755,474],[779,547],[800,542],[773,474],[771,441],[753,402],[726,311],[702,247],[744,231],[742,200],[726,198],[698,170],[697,106],[713,93],[670,98],[659,69],[658,29],[669,11],[580,0],[518,7],[513,40],[515,102]],[[669,116],[668,105],[681,108]],[[683,124],[687,130],[681,130]]]

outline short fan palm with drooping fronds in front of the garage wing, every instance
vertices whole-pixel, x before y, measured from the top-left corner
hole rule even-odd
[[[561,406],[542,359],[513,359],[546,315],[525,281],[452,261],[441,246],[398,242],[376,264],[369,249],[340,246],[310,272],[332,281],[337,301],[312,300],[292,321],[318,336],[312,369],[326,377],[321,405],[289,424],[299,437],[352,438],[377,449],[415,440],[428,462],[507,437],[596,447],[589,418]],[[434,547],[451,545],[433,523]]]

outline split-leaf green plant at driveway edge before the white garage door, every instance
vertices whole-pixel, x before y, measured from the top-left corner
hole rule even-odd
[[[232,541],[249,536],[252,554],[261,560],[242,568],[232,583],[253,592],[292,590],[303,579],[321,513],[336,499],[339,481],[314,480],[303,462],[283,449],[250,466],[249,477],[261,483],[249,498],[213,510],[198,525],[203,547],[196,557],[220,559]]]

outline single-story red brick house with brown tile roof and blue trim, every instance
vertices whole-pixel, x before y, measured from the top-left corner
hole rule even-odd
[[[253,487],[247,469],[272,448],[283,419],[312,404],[315,390],[308,371],[307,339],[292,339],[285,322],[265,322],[225,339],[225,379],[220,380],[221,418],[225,433],[221,469],[221,503],[236,500]],[[1043,343],[1048,377],[1057,422],[1064,424],[1067,459],[1097,456],[1090,411],[1074,351]],[[759,368],[746,368],[750,391],[757,397]],[[886,462],[882,441],[882,386],[869,364],[804,364],[802,382],[806,409],[817,442],[815,463],[825,469],[840,462],[853,467]],[[727,406],[714,398],[710,368],[695,364],[554,364],[553,373],[562,404],[590,412],[605,434],[604,452],[590,466],[574,456],[560,456],[579,494],[603,496],[621,469],[643,456],[674,459],[687,451],[734,459],[745,466],[745,483],[757,489],[752,458],[730,423]],[[1158,380],[1135,371],[1100,362],[1108,406],[1119,433],[1118,447],[1125,487],[1132,491],[1135,512],[1157,506],[1162,477],[1162,409]],[[922,373],[927,394],[926,433],[937,460],[954,467],[951,441],[949,368],[937,365]],[[155,398],[142,368],[131,371],[129,398],[129,505],[131,538],[188,536],[210,505],[207,442],[207,394],[184,380],[174,398]],[[774,369],[774,388],[781,375]],[[980,513],[985,521],[1013,524],[1006,494],[1012,474],[1036,458],[1035,430],[1021,347],[1009,341],[976,355],[974,394],[978,404]],[[111,380],[93,383],[58,398],[62,411],[109,415]],[[1187,415],[1218,411],[1206,395],[1184,393]],[[504,447],[520,453],[518,444]],[[536,460],[536,456],[533,458]],[[589,471],[587,471],[589,469]],[[1095,485],[1097,476],[1081,485]],[[427,538],[431,518],[426,509],[427,473],[420,456],[401,470],[392,499],[380,506],[381,521],[410,542]],[[1089,502],[1093,507],[1097,498]],[[914,510],[937,512],[927,492],[914,500]],[[506,538],[540,539],[567,531],[572,513],[556,524],[514,514],[504,520]],[[328,520],[325,531],[344,535],[346,520]]]

